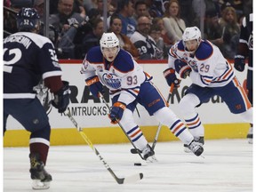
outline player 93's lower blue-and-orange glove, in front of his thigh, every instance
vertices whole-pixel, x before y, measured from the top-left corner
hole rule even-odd
[[[124,114],[126,105],[123,102],[116,102],[110,110],[108,117],[111,119],[111,124],[117,124]]]

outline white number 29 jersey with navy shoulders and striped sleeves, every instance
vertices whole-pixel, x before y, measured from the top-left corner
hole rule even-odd
[[[185,49],[183,41],[173,44],[168,52],[168,66],[174,68],[174,60],[182,60],[192,69],[190,79],[201,87],[221,87],[234,77],[233,67],[220,49],[207,40],[202,40],[194,55]]]

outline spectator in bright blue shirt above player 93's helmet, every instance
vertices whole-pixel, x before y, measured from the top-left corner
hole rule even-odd
[[[134,9],[130,0],[117,0],[116,13],[122,20],[122,34],[131,37],[136,29],[136,20],[132,18]]]

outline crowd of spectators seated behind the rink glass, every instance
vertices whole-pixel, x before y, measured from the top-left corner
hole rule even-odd
[[[241,20],[252,12],[252,0],[106,0],[107,30],[134,59],[167,59],[185,28],[200,28],[227,59],[234,59]],[[4,37],[17,31],[15,12],[34,7],[44,25],[44,0],[4,0]],[[10,11],[11,10],[11,11]],[[83,60],[103,34],[103,0],[50,0],[49,37],[60,59]],[[43,30],[42,30],[43,35]]]

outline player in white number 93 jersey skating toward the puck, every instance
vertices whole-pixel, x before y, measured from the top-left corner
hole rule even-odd
[[[151,81],[152,76],[143,71],[129,52],[120,49],[114,33],[104,33],[100,46],[87,52],[82,72],[93,96],[99,97],[103,85],[108,87],[112,100],[109,114],[111,123],[119,122],[124,126],[147,162],[155,162],[156,157],[140,127],[134,122],[132,114],[138,103],[147,109],[150,116],[156,116],[161,124],[167,125],[196,156],[203,153],[204,148],[195,142],[180,118],[166,106],[164,98]]]

